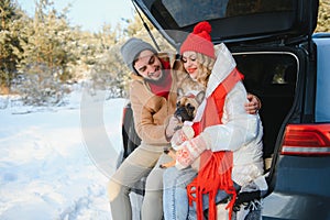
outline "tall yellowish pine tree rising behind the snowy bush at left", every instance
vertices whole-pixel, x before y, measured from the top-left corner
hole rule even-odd
[[[45,0],[36,2],[33,22],[24,29],[24,35],[29,37],[24,43],[24,61],[21,65],[25,72],[46,66],[50,69],[48,77],[66,80],[70,78],[68,63],[75,59],[70,46],[72,31],[66,14],[58,14],[52,4]]]

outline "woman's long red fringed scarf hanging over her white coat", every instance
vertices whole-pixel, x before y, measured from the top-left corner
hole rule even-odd
[[[227,94],[234,85],[243,79],[243,75],[234,68],[230,75],[207,98],[204,116],[200,122],[194,123],[193,129],[198,135],[205,128],[222,124],[223,106]],[[215,117],[217,116],[218,117]],[[233,153],[231,151],[211,152],[205,151],[200,155],[200,169],[197,177],[187,186],[189,205],[197,205],[197,219],[202,220],[202,195],[209,195],[209,220],[217,219],[216,196],[218,190],[224,190],[232,196],[227,209],[229,219],[232,217],[232,208],[235,202],[237,191],[231,178],[233,166]]]

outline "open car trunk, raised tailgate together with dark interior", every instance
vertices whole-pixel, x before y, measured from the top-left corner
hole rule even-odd
[[[312,54],[318,0],[133,0],[164,37],[179,48],[194,26],[208,21],[211,40],[226,43],[246,90],[260,97],[264,158],[277,156],[282,127],[297,98],[306,51]],[[302,48],[301,45],[305,45]],[[304,52],[305,51],[305,52]],[[304,54],[300,55],[299,54]]]

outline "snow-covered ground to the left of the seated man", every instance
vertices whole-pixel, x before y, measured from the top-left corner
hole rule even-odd
[[[124,100],[105,97],[76,91],[57,108],[0,97],[1,220],[111,219]]]

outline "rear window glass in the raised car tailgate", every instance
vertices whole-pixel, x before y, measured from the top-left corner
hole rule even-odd
[[[295,0],[156,0],[152,9],[162,11],[166,21],[175,22],[170,26],[183,28],[202,20],[293,11],[294,2]]]

